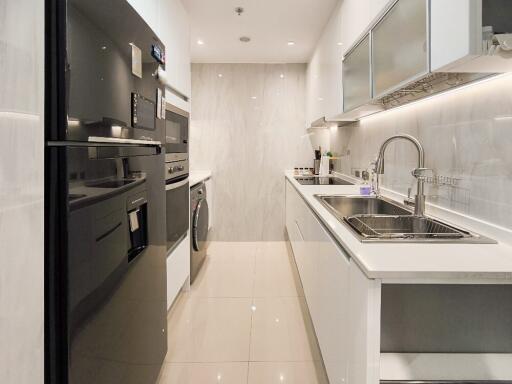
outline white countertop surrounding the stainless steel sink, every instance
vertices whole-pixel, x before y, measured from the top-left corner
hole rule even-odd
[[[414,279],[434,283],[441,279],[512,284],[512,246],[509,244],[362,243],[314,197],[315,194],[358,195],[359,186],[300,185],[293,171],[286,172],[286,178],[369,278],[382,278],[388,282]],[[432,216],[433,210],[427,206],[427,215]],[[435,212],[436,217],[446,220]],[[450,222],[482,235],[493,233],[482,232],[482,227],[468,227],[468,220],[457,222],[453,216]]]

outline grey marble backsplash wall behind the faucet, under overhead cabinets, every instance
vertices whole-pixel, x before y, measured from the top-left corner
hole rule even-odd
[[[342,155],[337,170],[367,168],[382,141],[395,133],[416,136],[425,146],[426,166],[455,185],[429,185],[437,205],[512,228],[512,75],[436,96],[331,131]],[[392,144],[383,185],[406,193],[416,152],[407,142]],[[414,193],[414,190],[413,190]]]

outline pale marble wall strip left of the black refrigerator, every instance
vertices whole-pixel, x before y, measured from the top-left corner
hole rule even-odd
[[[43,383],[44,2],[0,2],[0,383]]]

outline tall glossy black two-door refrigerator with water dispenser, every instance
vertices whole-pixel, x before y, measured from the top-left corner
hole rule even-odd
[[[46,383],[157,380],[164,52],[125,0],[46,0]]]

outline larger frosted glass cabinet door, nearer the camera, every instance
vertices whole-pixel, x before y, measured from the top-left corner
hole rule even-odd
[[[426,74],[428,0],[399,0],[372,31],[373,96]]]

